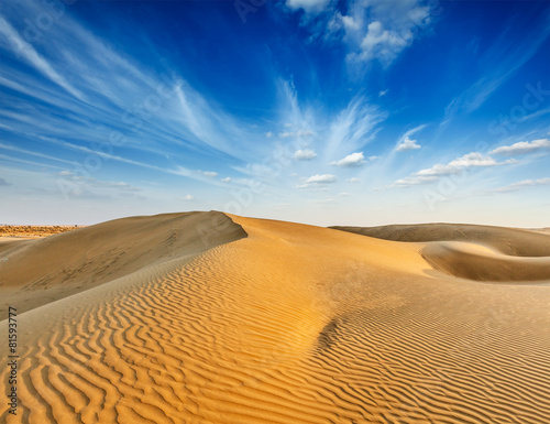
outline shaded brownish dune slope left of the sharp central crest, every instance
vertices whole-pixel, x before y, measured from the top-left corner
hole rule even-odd
[[[131,217],[31,241],[7,240],[6,249],[0,244],[0,314],[15,300],[21,313],[245,236],[226,215],[210,211]]]

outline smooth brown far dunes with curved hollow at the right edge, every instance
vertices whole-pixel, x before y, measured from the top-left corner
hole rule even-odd
[[[384,240],[417,242],[435,269],[476,281],[550,280],[550,235],[458,224],[332,227]]]

